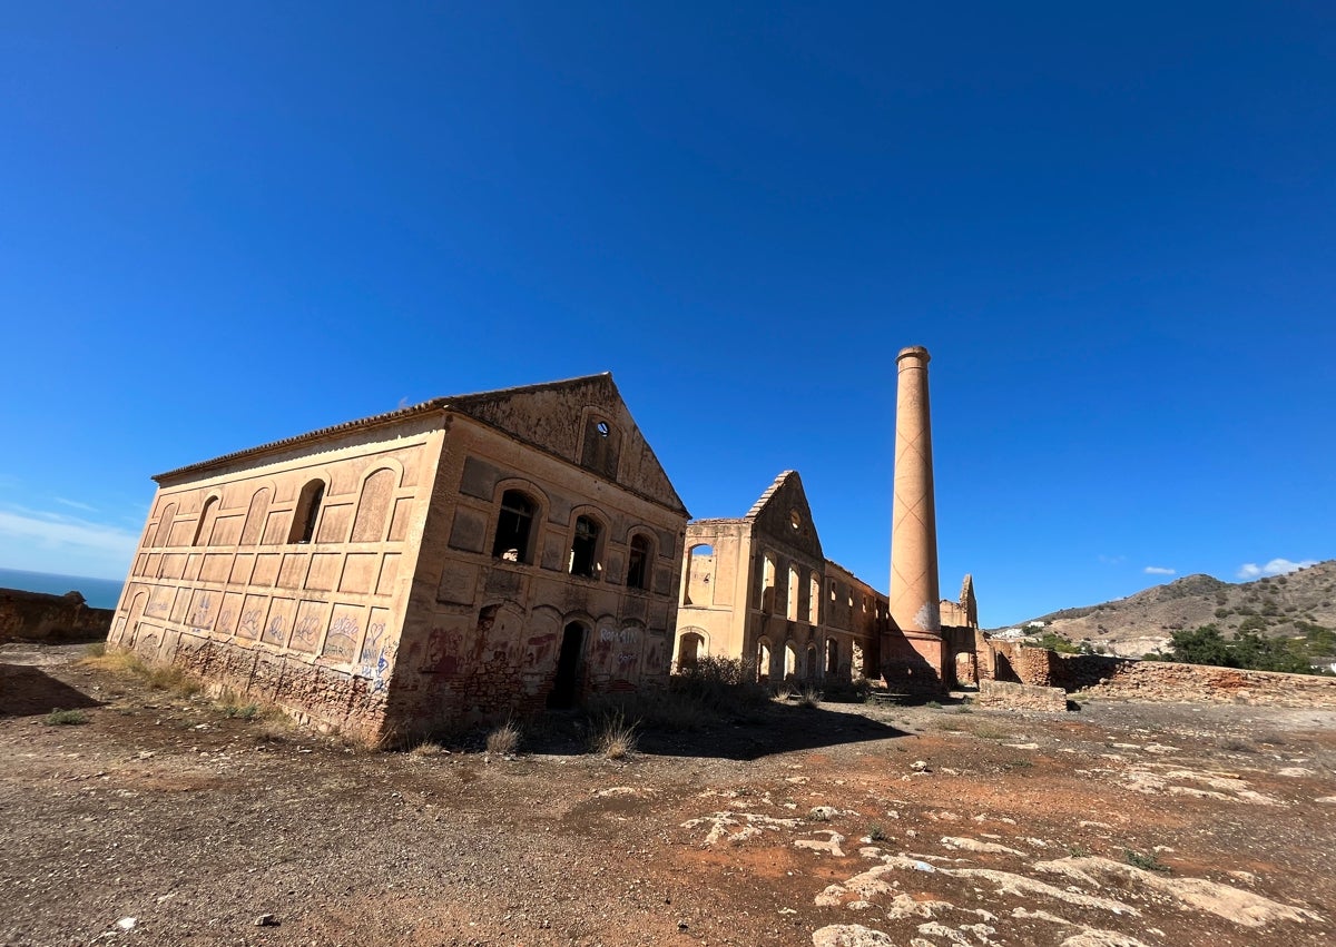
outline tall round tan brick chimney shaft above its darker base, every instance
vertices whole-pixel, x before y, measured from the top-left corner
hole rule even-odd
[[[937,588],[937,508],[933,502],[933,426],[927,406],[927,349],[895,357],[895,498],[891,509],[891,617],[902,632],[941,634]]]

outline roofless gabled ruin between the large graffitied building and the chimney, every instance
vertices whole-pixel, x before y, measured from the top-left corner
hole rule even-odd
[[[687,525],[677,665],[743,658],[760,680],[875,677],[886,596],[822,552],[802,478],[782,473],[747,516]]]

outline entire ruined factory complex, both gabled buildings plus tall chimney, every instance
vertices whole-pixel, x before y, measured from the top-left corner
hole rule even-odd
[[[937,592],[927,358],[898,358],[888,596],[826,558],[792,470],[688,528],[603,374],[155,477],[108,644],[375,741],[663,687],[675,654],[776,684],[971,683],[971,580]]]

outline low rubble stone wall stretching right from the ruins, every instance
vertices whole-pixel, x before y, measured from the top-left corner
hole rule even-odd
[[[1017,642],[990,642],[997,680],[1150,701],[1245,703],[1336,708],[1336,677],[1277,675],[1202,664],[1058,654]]]

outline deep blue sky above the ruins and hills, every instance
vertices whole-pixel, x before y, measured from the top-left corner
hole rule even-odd
[[[148,477],[611,370],[697,517],[880,589],[933,354],[985,625],[1336,556],[1331,3],[0,9],[0,566]]]

